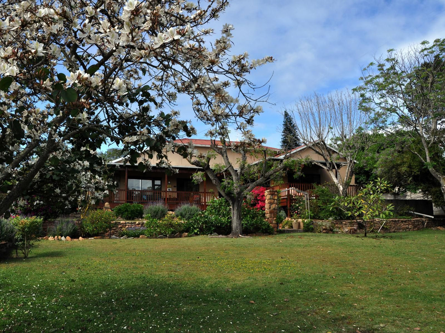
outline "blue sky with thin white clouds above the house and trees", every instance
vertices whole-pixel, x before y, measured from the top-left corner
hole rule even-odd
[[[283,107],[314,91],[356,87],[360,69],[389,48],[445,38],[445,0],[238,0],[212,28],[219,31],[224,23],[235,27],[233,53],[276,59],[257,69],[251,80],[261,85],[272,76],[269,102],[275,105],[263,104],[254,133],[279,147]],[[186,100],[180,99],[178,108],[182,118],[193,119]],[[206,139],[206,127],[194,124],[196,138]]]

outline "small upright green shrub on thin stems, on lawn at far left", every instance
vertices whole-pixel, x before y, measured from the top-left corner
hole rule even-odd
[[[16,246],[23,253],[24,258],[28,258],[34,241],[42,229],[43,218],[37,216],[24,218],[17,215],[11,219],[11,222],[16,228]]]

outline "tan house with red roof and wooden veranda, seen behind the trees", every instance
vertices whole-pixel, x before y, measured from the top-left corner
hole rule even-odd
[[[198,153],[206,153],[210,149],[210,140],[181,139],[175,141],[176,144],[188,144],[189,142],[193,143],[194,149],[196,149]],[[282,158],[280,157],[281,154],[278,148],[267,148],[272,152],[276,152],[276,159]],[[305,146],[296,149],[295,152],[292,152],[292,155],[297,156],[303,154],[311,157],[313,155],[311,155],[310,149]],[[194,184],[192,182],[192,174],[197,171],[202,171],[202,169],[191,165],[186,159],[182,158],[181,155],[173,152],[168,152],[167,157],[171,166],[177,170],[177,173],[168,174],[165,168],[159,167],[153,167],[151,170],[142,172],[138,170],[137,165],[124,164],[123,158],[116,159],[109,163],[118,168],[116,172],[118,186],[116,190],[110,193],[108,198],[105,198],[105,201],[109,202],[111,208],[125,202],[144,204],[162,201],[168,205],[170,210],[174,210],[178,205],[183,203],[191,203],[205,209],[207,202],[218,197],[218,190],[209,179],[205,179],[200,184]],[[235,151],[229,151],[229,159],[235,168],[239,157],[239,154]],[[138,162],[143,158],[144,156],[141,155]],[[317,156],[313,156],[313,158],[319,159]],[[249,163],[255,163],[260,159],[260,156],[247,157]],[[157,160],[152,159],[151,162],[154,165]],[[217,155],[216,158],[211,161],[212,165],[216,163],[223,164],[223,159],[220,155]],[[339,163],[341,163],[341,161],[339,161]],[[326,170],[316,165],[305,166],[303,172],[306,176],[298,179],[292,178],[291,173],[287,174],[283,179],[284,183],[290,183],[292,187],[308,190],[313,188],[313,183],[322,183],[330,180]],[[283,186],[283,184],[280,186]]]

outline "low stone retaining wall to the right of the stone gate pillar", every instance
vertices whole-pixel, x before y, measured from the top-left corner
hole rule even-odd
[[[317,230],[319,223],[324,222],[325,224],[331,224],[331,227],[323,226],[321,227],[322,232],[333,232],[333,229],[340,230],[341,233],[355,234],[364,232],[363,226],[356,221],[314,221],[314,230]],[[426,226],[425,226],[426,223]],[[377,227],[378,224],[378,227]],[[377,231],[380,228],[380,224],[376,224]],[[442,227],[445,226],[445,219],[431,219],[431,218],[413,218],[413,219],[390,219],[385,222],[383,228],[380,230],[381,233],[387,232],[398,232],[398,231],[414,231],[426,228]]]

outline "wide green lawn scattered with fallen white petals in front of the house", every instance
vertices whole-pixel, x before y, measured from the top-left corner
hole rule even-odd
[[[0,331],[439,333],[444,277],[433,230],[42,241],[0,262]]]

